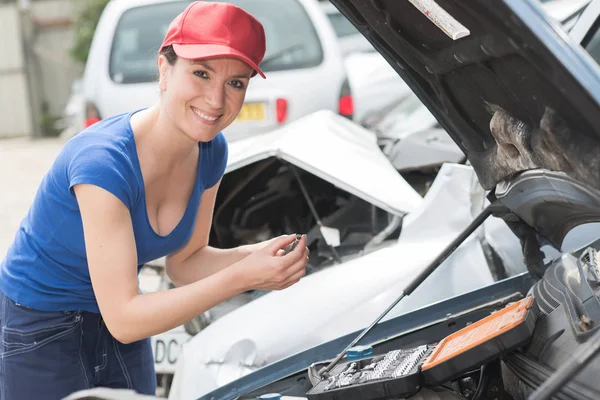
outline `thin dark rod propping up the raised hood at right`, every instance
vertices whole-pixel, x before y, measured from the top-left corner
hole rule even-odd
[[[415,277],[408,286],[400,293],[400,297],[398,297],[390,306],[379,316],[371,325],[369,325],[365,330],[363,330],[360,335],[356,337],[340,354],[337,355],[333,361],[331,361],[326,367],[323,367],[319,370],[318,374],[321,378],[326,378],[329,371],[344,357],[346,352],[354,347],[359,340],[361,340],[367,333],[377,325],[379,321],[383,317],[385,317],[392,309],[406,296],[410,296],[410,294],[417,288],[429,275],[433,273],[457,248],[460,246],[483,222],[492,215],[493,211],[496,211],[498,208],[505,209],[504,206],[499,203],[492,203],[484,208],[473,221],[429,264],[427,268],[425,268],[417,277]]]

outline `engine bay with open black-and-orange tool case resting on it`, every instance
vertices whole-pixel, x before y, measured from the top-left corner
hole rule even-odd
[[[309,400],[594,399],[600,358],[600,241],[551,262],[523,295],[379,343],[354,346],[264,393]]]

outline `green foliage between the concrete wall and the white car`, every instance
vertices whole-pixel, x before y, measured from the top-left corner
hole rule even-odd
[[[77,1],[79,3],[79,1]],[[79,4],[83,7],[79,11],[75,23],[75,40],[71,48],[71,57],[83,64],[86,63],[92,38],[100,15],[109,0],[87,0]]]

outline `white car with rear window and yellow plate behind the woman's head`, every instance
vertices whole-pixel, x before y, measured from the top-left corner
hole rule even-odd
[[[230,0],[264,25],[267,79],[251,80],[229,141],[325,109],[351,116],[351,91],[335,31],[315,0]],[[101,118],[158,99],[157,51],[170,21],[189,2],[112,0],[98,22],[83,77],[90,110]],[[310,83],[310,84],[308,84]]]

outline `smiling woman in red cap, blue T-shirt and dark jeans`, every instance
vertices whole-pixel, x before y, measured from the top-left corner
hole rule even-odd
[[[95,386],[155,393],[149,337],[250,289],[298,282],[303,236],[208,246],[227,164],[222,133],[264,74],[262,25],[194,2],[159,50],[160,100],[97,122],[65,144],[0,268],[0,397],[60,399]],[[166,255],[177,288],[140,294]]]

